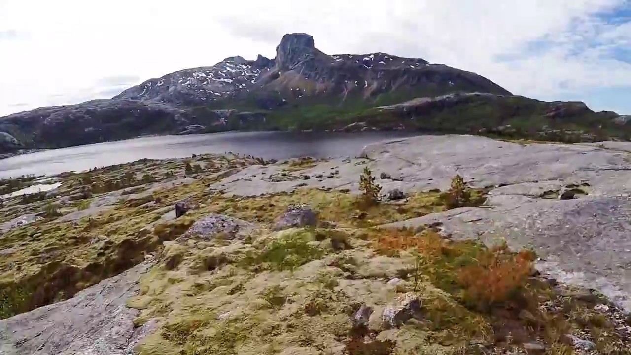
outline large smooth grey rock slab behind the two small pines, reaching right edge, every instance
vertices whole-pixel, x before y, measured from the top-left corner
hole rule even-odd
[[[282,165],[255,165],[217,183],[228,194],[260,195],[300,186],[358,192],[368,165],[382,191],[446,190],[456,174],[490,188],[487,203],[396,222],[442,224],[451,238],[533,247],[542,272],[598,289],[631,310],[631,143],[518,144],[480,136],[416,136],[364,148],[357,157],[289,172],[310,179],[274,181]],[[333,172],[333,174],[332,174]],[[379,179],[381,172],[391,178]],[[321,178],[317,178],[321,176]],[[561,200],[565,191],[572,199]]]

